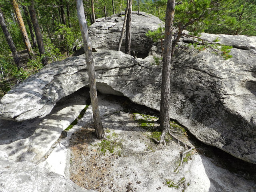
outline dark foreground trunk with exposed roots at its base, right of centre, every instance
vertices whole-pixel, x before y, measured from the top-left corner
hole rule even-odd
[[[172,26],[174,19],[175,0],[168,0],[165,19],[164,61],[162,70],[160,127],[162,135],[160,141],[165,144],[164,136],[170,129],[170,72],[172,60]]]

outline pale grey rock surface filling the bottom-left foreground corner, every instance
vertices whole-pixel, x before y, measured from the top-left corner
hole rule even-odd
[[[8,158],[0,158],[0,191],[94,192],[32,162],[13,162]]]

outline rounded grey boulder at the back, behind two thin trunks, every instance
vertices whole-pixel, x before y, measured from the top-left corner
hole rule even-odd
[[[99,18],[92,24],[88,31],[92,48],[96,51],[100,50],[116,50],[124,22],[124,12],[122,17],[112,15],[105,18]],[[151,14],[145,12],[132,12],[132,30],[131,30],[131,51],[138,51],[138,56],[145,57],[148,55],[152,46],[152,40],[146,37],[148,30],[156,30],[159,26],[163,26],[163,22]],[[121,46],[121,51],[124,51],[125,34]],[[81,49],[83,50],[83,48]],[[83,54],[80,52],[80,54]]]

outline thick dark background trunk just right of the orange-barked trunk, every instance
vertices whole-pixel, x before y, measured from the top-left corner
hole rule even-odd
[[[32,20],[32,24],[33,24],[33,27],[34,27],[34,30],[35,30],[39,53],[40,53],[40,55],[42,55],[45,52],[44,42],[43,42],[42,34],[40,32],[39,24],[38,24],[38,21],[37,21],[37,18],[36,18],[36,10],[35,10],[35,7],[34,7],[34,0],[30,0],[30,2],[31,2],[31,4],[30,4],[30,6],[28,6],[28,10],[29,10],[30,17],[31,17],[31,20]],[[44,66],[48,64],[47,56],[44,56],[44,58],[42,58],[42,64]]]

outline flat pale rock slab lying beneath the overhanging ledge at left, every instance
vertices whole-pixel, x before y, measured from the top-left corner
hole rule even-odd
[[[0,150],[10,160],[39,162],[86,106],[88,90],[63,98],[45,118],[0,120]]]

